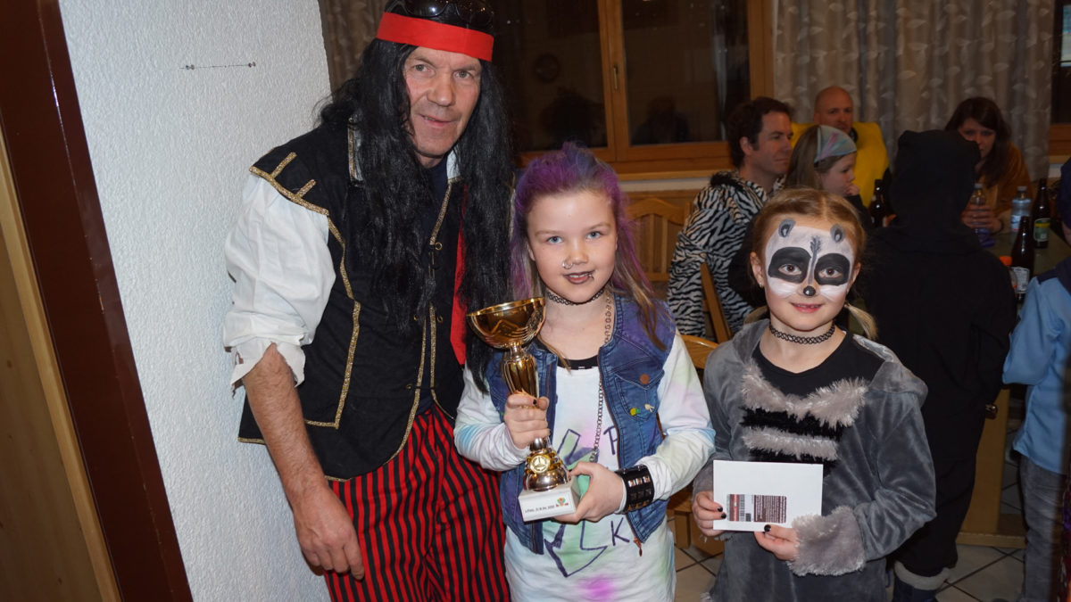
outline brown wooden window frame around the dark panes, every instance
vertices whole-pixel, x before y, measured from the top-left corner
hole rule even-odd
[[[606,107],[606,147],[592,149],[627,179],[706,177],[731,166],[725,141],[632,146],[629,132],[628,74],[624,69],[624,27],[621,0],[598,0],[602,55],[603,104]],[[748,0],[748,60],[751,95],[773,90],[773,25],[770,0]],[[524,163],[546,151],[522,154]]]

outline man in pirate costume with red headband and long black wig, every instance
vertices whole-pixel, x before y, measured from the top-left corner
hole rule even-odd
[[[334,600],[504,600],[495,477],[459,456],[466,307],[503,301],[512,168],[481,0],[392,0],[321,122],[251,168],[227,238],[240,438]]]

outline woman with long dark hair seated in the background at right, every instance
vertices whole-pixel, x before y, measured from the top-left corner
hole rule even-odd
[[[989,228],[993,234],[1004,230],[1009,224],[1015,190],[1026,186],[1026,194],[1032,198],[1034,186],[1023,153],[1011,142],[1011,129],[1004,120],[1000,107],[984,96],[967,99],[955,107],[945,131],[959,132],[978,145],[982,155],[975,166],[975,174],[982,184],[986,205],[983,208],[967,206],[963,223],[971,228]]]

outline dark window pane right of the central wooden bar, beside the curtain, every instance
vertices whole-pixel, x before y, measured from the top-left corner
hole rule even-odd
[[[724,139],[727,112],[751,96],[746,0],[623,0],[621,10],[632,144]]]

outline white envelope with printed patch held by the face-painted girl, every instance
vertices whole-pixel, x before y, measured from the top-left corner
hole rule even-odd
[[[797,516],[821,514],[821,465],[715,460],[713,498],[727,515],[714,529],[788,527]]]

